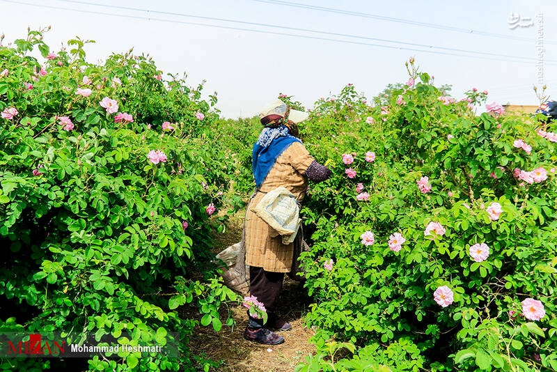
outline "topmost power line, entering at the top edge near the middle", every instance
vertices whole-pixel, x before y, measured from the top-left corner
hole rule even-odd
[[[521,38],[519,36],[508,36],[508,35],[505,35],[503,33],[492,33],[492,32],[487,32],[487,31],[473,30],[473,29],[463,29],[461,27],[446,26],[446,25],[443,25],[443,24],[418,22],[418,21],[413,21],[413,20],[405,20],[405,19],[402,19],[402,18],[386,17],[386,16],[383,16],[383,15],[353,12],[353,11],[350,11],[350,10],[343,10],[343,9],[337,9],[337,8],[327,8],[327,7],[324,7],[324,6],[314,6],[314,5],[301,4],[301,3],[292,3],[290,1],[278,1],[278,0],[252,0],[252,1],[257,1],[258,3],[270,3],[270,4],[274,4],[274,5],[290,6],[290,7],[295,7],[295,8],[320,10],[322,12],[327,12],[327,13],[336,13],[336,14],[342,14],[342,15],[353,15],[353,16],[356,16],[356,17],[364,17],[364,18],[371,18],[371,19],[374,19],[374,20],[383,20],[383,21],[389,21],[389,22],[411,24],[411,25],[414,25],[414,26],[430,27],[432,29],[442,29],[442,30],[446,30],[446,31],[456,31],[456,32],[468,33],[468,34],[478,35],[478,36],[489,36],[489,37],[493,37],[493,38],[503,38],[503,39],[509,39],[509,40],[519,40],[519,41],[536,41],[533,38]],[[557,42],[554,42],[554,41],[546,41],[545,43],[546,44],[557,44]]]

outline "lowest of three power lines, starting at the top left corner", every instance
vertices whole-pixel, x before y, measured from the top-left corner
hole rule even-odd
[[[197,23],[197,22],[165,20],[165,19],[161,19],[161,18],[152,18],[150,16],[141,17],[141,16],[134,16],[134,15],[123,15],[123,14],[99,12],[99,11],[96,11],[96,10],[82,10],[82,9],[73,9],[73,8],[63,8],[63,7],[60,7],[60,6],[48,6],[48,5],[42,5],[42,4],[24,3],[23,1],[15,1],[15,0],[0,0],[0,1],[6,2],[6,3],[17,3],[17,4],[21,4],[21,5],[27,5],[27,6],[36,6],[36,7],[40,7],[40,8],[50,8],[50,9],[56,9],[56,10],[69,10],[69,11],[74,11],[74,12],[78,12],[78,13],[108,15],[108,16],[111,16],[111,17],[125,17],[125,18],[130,18],[130,19],[135,19],[135,20],[152,20],[152,21],[157,21],[157,22],[189,24],[189,25],[194,25],[194,26],[205,26],[205,27],[212,27],[212,28],[217,28],[217,29],[232,29],[232,30],[238,30],[238,31],[266,33],[266,34],[278,35],[278,36],[292,36],[292,37],[306,38],[306,39],[312,39],[312,40],[333,41],[333,42],[341,42],[341,43],[352,44],[352,45],[368,45],[368,46],[372,46],[372,47],[409,50],[409,51],[412,51],[412,52],[424,52],[424,53],[430,53],[430,54],[441,54],[441,55],[446,55],[446,56],[461,56],[461,57],[472,58],[472,59],[487,59],[487,60],[493,60],[493,61],[505,61],[505,62],[531,64],[531,62],[528,62],[528,61],[517,60],[518,58],[523,58],[523,57],[518,57],[518,56],[510,56],[510,58],[515,58],[515,59],[492,58],[492,57],[489,57],[489,56],[473,56],[473,55],[468,55],[468,54],[437,52],[437,51],[434,51],[434,50],[414,49],[414,48],[408,48],[408,47],[395,47],[393,45],[380,45],[380,44],[373,44],[373,43],[370,43],[370,42],[357,42],[357,41],[352,41],[352,40],[321,38],[321,37],[317,37],[317,36],[297,35],[297,34],[292,34],[292,33],[281,33],[281,32],[265,31],[265,30],[258,30],[258,29],[244,29],[244,28],[241,28],[241,27],[222,26],[222,25],[217,25],[217,24],[203,24],[203,23]],[[65,0],[62,0],[62,1],[65,1]],[[93,5],[98,6],[99,4],[93,4]],[[112,6],[107,6],[107,7],[116,8],[116,7],[112,7]],[[149,13],[154,13],[153,11],[150,11],[150,10],[143,10],[143,11],[146,11],[146,12],[149,12]],[[176,15],[176,13],[174,13],[174,14]],[[205,18],[205,17],[201,17],[201,16],[191,16],[191,17]],[[241,21],[235,21],[235,22],[241,22]],[[469,53],[473,53],[473,52],[469,52]],[[497,55],[497,56],[505,57],[505,55]],[[548,65],[553,65],[557,61],[552,61],[551,60],[551,61],[545,61],[545,62]]]

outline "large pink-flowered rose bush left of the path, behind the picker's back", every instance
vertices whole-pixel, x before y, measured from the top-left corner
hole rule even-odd
[[[0,327],[97,339],[127,331],[130,344],[180,332],[180,359],[120,352],[88,368],[191,370],[187,341],[199,321],[174,309],[198,304],[201,324],[219,330],[219,305],[237,300],[211,263],[211,233],[226,215],[209,217],[233,163],[196,136],[218,116],[214,98],[165,81],[146,56],[88,63],[84,43],[54,54],[31,31],[0,47]],[[2,369],[65,363],[30,360],[6,359]]]

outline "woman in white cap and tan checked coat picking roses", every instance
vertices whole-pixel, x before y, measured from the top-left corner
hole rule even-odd
[[[326,180],[331,175],[327,166],[317,163],[299,140],[298,123],[308,114],[290,109],[281,100],[267,104],[260,113],[263,130],[253,146],[252,171],[256,192],[246,212],[246,265],[249,265],[249,290],[252,297],[265,307],[268,319],[255,318],[248,313],[249,323],[244,337],[264,344],[283,343],[284,338],[272,330],[290,330],[290,324],[273,312],[281,292],[284,273],[292,270],[294,243],[283,244],[281,235],[261,219],[251,208],[273,189],[285,187],[297,201],[302,201],[308,179]]]

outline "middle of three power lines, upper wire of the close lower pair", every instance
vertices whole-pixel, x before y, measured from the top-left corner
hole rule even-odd
[[[370,37],[367,37],[367,36],[350,35],[350,34],[347,34],[347,33],[335,33],[335,32],[329,32],[329,31],[317,31],[317,30],[311,30],[311,29],[301,29],[301,28],[297,28],[297,27],[280,26],[280,25],[276,25],[276,24],[244,22],[244,21],[239,21],[239,20],[228,20],[226,18],[203,17],[201,15],[190,15],[190,14],[185,14],[185,13],[164,12],[164,11],[160,11],[160,10],[132,8],[132,7],[127,7],[127,6],[103,5],[103,4],[91,3],[89,1],[76,1],[76,0],[58,0],[58,1],[63,1],[65,3],[79,3],[79,4],[82,4],[82,5],[88,5],[88,6],[103,6],[105,8],[133,10],[133,11],[137,11],[137,12],[148,12],[148,13],[161,14],[161,15],[173,15],[173,16],[180,16],[180,17],[190,17],[190,18],[197,18],[197,19],[202,19],[202,20],[211,20],[211,21],[219,21],[219,22],[233,22],[233,23],[237,23],[237,24],[247,24],[247,25],[250,25],[250,26],[272,27],[272,28],[275,28],[275,29],[285,29],[285,30],[290,30],[290,31],[311,32],[311,33],[318,33],[318,34],[327,35],[327,36],[340,36],[340,37],[344,37],[344,38],[357,38],[357,39],[362,39],[362,40],[389,42],[389,43],[392,43],[392,44],[409,45],[409,46],[412,46],[412,47],[441,49],[441,50],[447,50],[449,52],[482,54],[482,55],[485,55],[485,56],[496,56],[496,57],[504,57],[504,58],[512,58],[512,59],[524,59],[525,61],[537,61],[536,59],[533,59],[531,57],[512,56],[512,55],[508,55],[508,54],[497,54],[497,53],[489,53],[489,52],[478,52],[478,51],[471,51],[471,50],[457,49],[457,48],[449,48],[449,47],[436,47],[434,45],[417,44],[417,43],[414,43],[414,42],[403,42],[403,41],[398,41],[398,40],[370,38]],[[557,61],[550,61],[550,62],[557,62]]]

